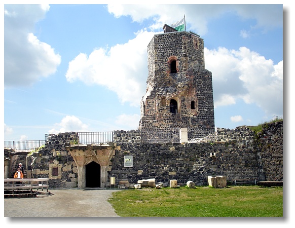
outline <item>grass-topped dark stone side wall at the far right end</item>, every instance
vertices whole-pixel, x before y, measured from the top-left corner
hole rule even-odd
[[[257,138],[266,180],[283,181],[283,121],[263,125]]]

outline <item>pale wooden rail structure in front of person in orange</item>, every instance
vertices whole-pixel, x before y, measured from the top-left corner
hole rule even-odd
[[[32,189],[41,188],[43,191],[43,188],[46,188],[48,192],[48,180],[48,178],[4,178],[4,189],[30,189],[32,192]]]

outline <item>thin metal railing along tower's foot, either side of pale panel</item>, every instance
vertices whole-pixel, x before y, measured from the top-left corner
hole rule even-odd
[[[215,141],[214,128],[188,128],[188,141]],[[179,128],[141,129],[142,142],[180,142]]]

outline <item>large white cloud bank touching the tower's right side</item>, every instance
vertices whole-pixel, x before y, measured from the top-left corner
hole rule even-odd
[[[208,50],[206,68],[212,72],[214,106],[238,99],[255,103],[270,115],[283,113],[283,61],[277,65],[245,47]]]

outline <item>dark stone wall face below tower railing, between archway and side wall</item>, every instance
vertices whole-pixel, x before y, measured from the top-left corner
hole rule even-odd
[[[109,176],[137,183],[155,178],[169,184],[191,180],[207,184],[206,176],[225,175],[228,181],[261,176],[254,144],[242,142],[216,143],[127,143],[116,150]],[[133,156],[133,167],[124,167],[124,156]]]

